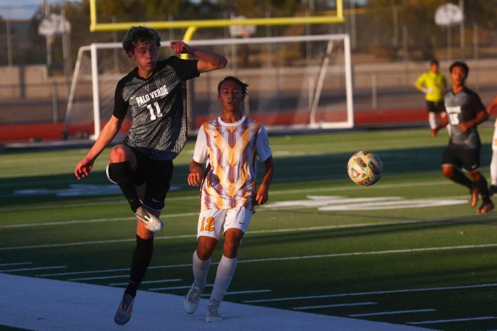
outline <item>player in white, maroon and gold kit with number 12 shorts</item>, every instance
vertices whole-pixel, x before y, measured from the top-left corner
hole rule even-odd
[[[197,250],[193,253],[194,283],[184,300],[184,308],[193,314],[207,283],[210,256],[224,233],[223,256],[207,305],[205,321],[220,321],[219,305],[228,289],[236,267],[238,246],[247,231],[254,205],[268,199],[274,163],[267,131],[262,124],[245,117],[240,103],[247,93],[246,84],[226,77],[218,85],[218,100],[223,111],[217,119],[202,124],[198,131],[188,183],[200,188],[200,215],[197,226]],[[256,189],[256,156],[266,167],[261,185]],[[202,176],[201,166],[207,160]]]

